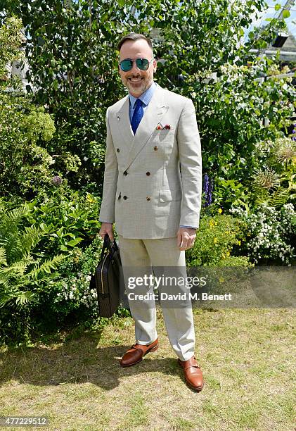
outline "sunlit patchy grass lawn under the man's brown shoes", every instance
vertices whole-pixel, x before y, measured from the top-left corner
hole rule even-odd
[[[185,385],[158,310],[160,349],[131,368],[118,361],[133,325],[2,351],[0,416],[48,416],[49,430],[295,430],[295,311],[194,313],[201,392]]]

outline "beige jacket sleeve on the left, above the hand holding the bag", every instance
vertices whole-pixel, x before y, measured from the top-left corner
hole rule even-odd
[[[101,211],[99,220],[108,220],[108,223],[115,222],[115,198],[118,178],[118,164],[115,148],[112,141],[110,126],[108,122],[108,109],[106,112],[106,153],[105,153],[105,173],[103,183],[103,198],[101,201]]]

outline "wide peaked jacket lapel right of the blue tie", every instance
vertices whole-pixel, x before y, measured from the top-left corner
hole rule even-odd
[[[162,117],[163,115],[165,115],[168,108],[169,107],[165,104],[162,87],[157,85],[157,87],[155,88],[155,92],[153,93],[152,99],[150,100],[148,107],[143,115],[141,123],[136,130],[136,135],[133,135],[131,131],[130,122],[128,125],[125,125],[124,121],[124,128],[127,129],[127,127],[129,127],[132,137],[131,149],[129,150],[129,155],[127,156],[127,164],[124,170],[127,170],[127,168],[129,168],[129,165],[131,165],[132,161],[134,161],[141,149],[143,149],[143,146],[146,144],[150,136],[153,134],[153,132],[155,132],[157,124],[161,123]],[[125,132],[125,135],[127,135],[127,132]]]

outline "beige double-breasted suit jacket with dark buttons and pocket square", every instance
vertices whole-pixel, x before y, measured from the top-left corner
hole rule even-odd
[[[129,96],[108,108],[106,125],[99,220],[135,239],[176,237],[180,225],[198,227],[202,159],[191,99],[157,85],[135,135]]]

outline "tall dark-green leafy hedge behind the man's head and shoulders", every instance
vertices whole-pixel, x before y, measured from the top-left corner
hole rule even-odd
[[[5,3],[5,2],[4,2]],[[250,48],[264,48],[283,20],[272,19],[256,39],[238,44],[262,11],[263,0],[243,4],[227,0],[186,1],[15,1],[6,2],[25,26],[25,54],[34,80],[33,101],[54,115],[56,134],[45,145],[56,158],[56,172],[71,187],[101,194],[105,149],[105,111],[126,94],[117,73],[117,42],[127,32],[153,35],[158,62],[157,82],[195,102],[202,139],[203,165],[221,180],[240,182],[255,164],[255,142],[274,139],[287,127],[294,98],[284,82],[254,81],[266,75],[269,61],[259,62]],[[41,13],[40,13],[41,12]],[[157,32],[153,33],[153,28]],[[237,67],[253,61],[250,69]],[[224,70],[224,65],[230,67]],[[234,69],[231,70],[231,65]],[[237,67],[236,67],[237,66]],[[217,73],[221,80],[207,80]],[[178,79],[182,75],[183,80]],[[269,127],[263,126],[269,118]],[[221,127],[223,125],[223,127]],[[65,154],[81,165],[67,170]],[[237,155],[240,154],[240,157]]]

